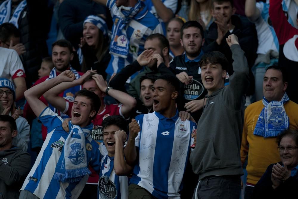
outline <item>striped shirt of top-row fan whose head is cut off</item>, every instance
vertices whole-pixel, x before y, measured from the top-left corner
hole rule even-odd
[[[113,27],[119,21],[119,9],[116,6],[116,0],[108,0],[107,7],[111,11],[111,16],[114,21]],[[131,64],[136,58],[144,51],[144,44],[146,38],[154,33],[161,33],[162,25],[158,19],[150,12],[148,12],[147,6],[142,2],[143,9],[134,16],[126,27],[126,35],[129,42],[129,53],[127,58],[122,58],[111,54],[111,60],[107,69],[105,70],[109,75],[119,72],[122,68]],[[134,78],[137,74],[131,76]],[[128,79],[129,83],[130,79]]]

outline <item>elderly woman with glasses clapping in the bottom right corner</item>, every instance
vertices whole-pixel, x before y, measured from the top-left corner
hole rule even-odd
[[[253,198],[298,197],[298,131],[285,130],[277,137],[281,162],[271,164],[254,187]]]

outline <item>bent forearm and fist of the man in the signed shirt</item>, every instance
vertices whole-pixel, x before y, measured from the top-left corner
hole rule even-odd
[[[128,140],[127,144],[124,149],[124,155],[126,163],[130,166],[134,166],[136,162],[136,137],[139,135],[139,132],[141,131],[139,124],[135,119],[131,120],[131,123],[128,125],[129,134],[128,134]]]

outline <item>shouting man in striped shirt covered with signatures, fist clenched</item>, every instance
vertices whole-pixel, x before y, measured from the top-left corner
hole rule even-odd
[[[152,87],[155,112],[138,115],[129,124],[124,149],[127,163],[134,166],[129,198],[180,198],[196,124],[179,118],[178,90],[175,76],[159,76]]]

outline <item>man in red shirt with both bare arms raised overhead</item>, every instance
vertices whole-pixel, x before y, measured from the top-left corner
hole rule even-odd
[[[59,96],[59,93],[78,85],[82,85],[83,90],[94,92],[100,99],[100,109],[92,120],[93,128],[90,137],[98,143],[101,143],[103,142],[103,120],[111,115],[121,115],[123,118],[128,119],[130,117],[131,110],[136,105],[136,100],[125,92],[108,87],[105,84],[103,76],[97,74],[95,70],[87,71],[81,78],[76,79],[71,83],[59,84],[44,94],[44,97],[47,101],[49,101],[49,103],[53,104],[55,108],[71,117],[72,121],[81,118],[81,113],[74,112],[74,114],[72,114],[72,107],[75,106],[75,102],[67,101]],[[120,102],[120,104],[105,104],[104,97],[106,95],[110,95],[115,98]],[[99,176],[92,168],[90,168],[90,170],[92,171],[92,174],[88,179],[82,195],[88,198],[96,198]]]

